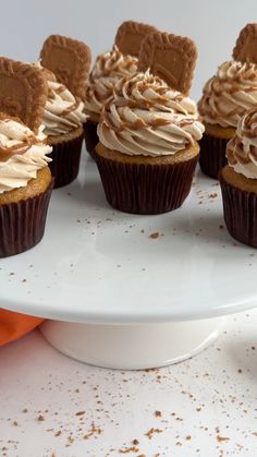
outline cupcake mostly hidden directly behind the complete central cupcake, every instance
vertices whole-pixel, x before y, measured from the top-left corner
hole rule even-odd
[[[140,41],[146,34],[156,32],[150,25],[127,21],[121,24],[112,50],[97,57],[88,76],[85,112],[89,119],[84,125],[86,147],[94,154],[98,143],[97,125],[103,105],[111,98],[115,83],[137,71]]]

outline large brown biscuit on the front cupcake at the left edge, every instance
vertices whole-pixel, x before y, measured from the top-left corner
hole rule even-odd
[[[20,118],[37,133],[47,94],[47,81],[39,69],[0,57],[0,111]]]

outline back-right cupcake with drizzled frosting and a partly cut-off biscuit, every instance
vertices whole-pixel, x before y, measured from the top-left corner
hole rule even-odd
[[[207,176],[218,178],[227,164],[225,146],[234,136],[237,122],[246,110],[257,104],[257,61],[243,51],[253,40],[257,24],[241,32],[233,50],[234,60],[222,63],[205,85],[198,109],[205,124],[200,141],[200,168]],[[245,49],[245,48],[244,48]]]

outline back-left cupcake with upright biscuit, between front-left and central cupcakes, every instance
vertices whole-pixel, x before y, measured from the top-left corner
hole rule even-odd
[[[83,123],[87,119],[82,99],[90,51],[81,41],[51,35],[45,41],[40,57],[48,82],[45,133],[52,146],[50,168],[54,188],[60,188],[72,182],[78,173]]]

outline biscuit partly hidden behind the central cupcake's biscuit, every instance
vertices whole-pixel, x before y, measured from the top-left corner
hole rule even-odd
[[[117,31],[115,45],[122,53],[138,57],[143,39],[154,32],[157,32],[157,28],[152,25],[125,21]]]

